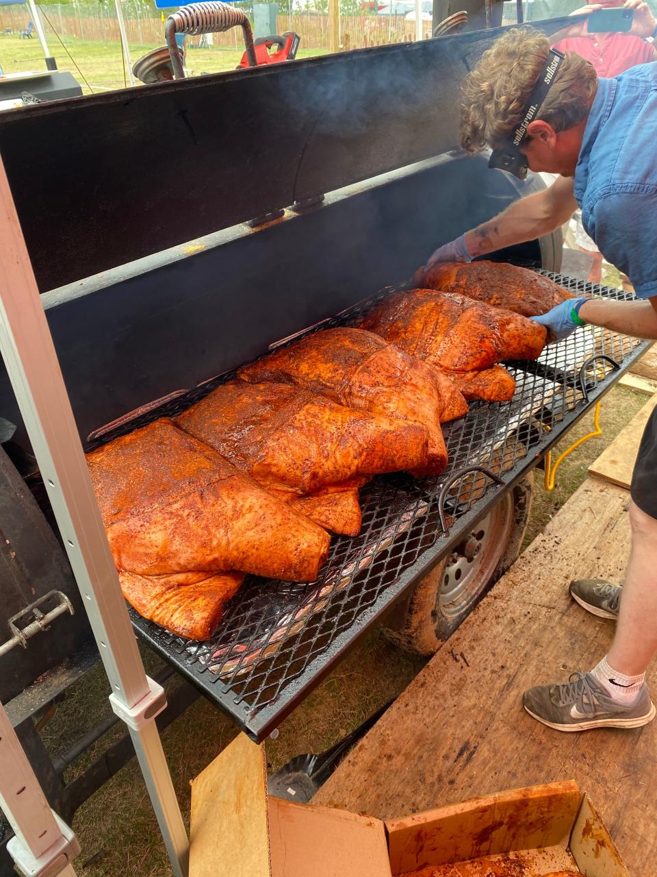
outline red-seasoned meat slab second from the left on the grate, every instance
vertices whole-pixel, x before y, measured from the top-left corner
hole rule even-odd
[[[291,384],[230,381],[176,423],[291,498],[427,461],[420,424],[345,408]]]

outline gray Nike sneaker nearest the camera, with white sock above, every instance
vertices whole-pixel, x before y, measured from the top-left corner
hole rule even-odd
[[[611,700],[590,673],[571,674],[562,685],[529,688],[522,695],[522,705],[530,716],[556,731],[640,728],[655,715],[645,682],[636,698],[625,705]]]

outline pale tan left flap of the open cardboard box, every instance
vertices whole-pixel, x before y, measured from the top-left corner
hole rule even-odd
[[[262,747],[239,734],[192,781],[189,877],[269,877]]]

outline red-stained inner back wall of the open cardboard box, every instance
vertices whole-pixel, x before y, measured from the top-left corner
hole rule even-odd
[[[575,782],[520,788],[385,823],[393,874],[539,846],[567,846],[582,802]]]

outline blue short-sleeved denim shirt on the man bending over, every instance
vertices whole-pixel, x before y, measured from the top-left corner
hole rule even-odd
[[[598,80],[575,197],[604,258],[657,296],[657,62]]]

